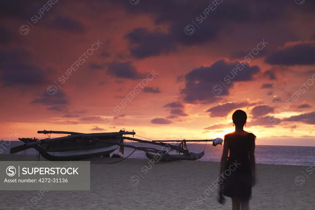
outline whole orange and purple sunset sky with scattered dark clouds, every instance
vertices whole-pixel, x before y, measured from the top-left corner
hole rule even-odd
[[[243,109],[257,144],[315,146],[315,1],[4,0],[0,14],[0,139],[223,138]]]

